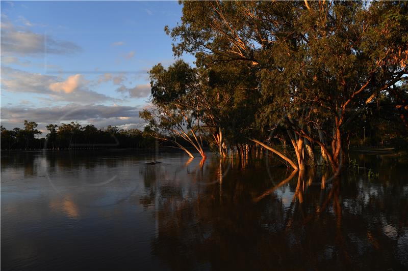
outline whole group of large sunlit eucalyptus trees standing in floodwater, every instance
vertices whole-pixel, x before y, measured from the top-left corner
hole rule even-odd
[[[155,66],[152,103],[174,109],[187,99],[177,110],[191,112],[176,122],[213,135],[221,155],[250,142],[272,148],[271,131],[279,131],[293,147],[295,168],[314,164],[319,146],[337,171],[358,119],[373,110],[399,115],[393,122],[404,123],[406,136],[406,2],[181,4],[181,23],[165,31],[174,55],[194,54],[196,67]]]

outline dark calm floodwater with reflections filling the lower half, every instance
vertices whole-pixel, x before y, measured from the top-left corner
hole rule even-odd
[[[336,179],[268,160],[3,152],[1,267],[406,269],[408,163],[353,158]]]

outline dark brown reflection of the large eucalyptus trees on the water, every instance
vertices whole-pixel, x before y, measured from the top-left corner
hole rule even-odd
[[[225,163],[231,167],[227,174],[223,174]],[[407,232],[406,210],[402,210],[408,206],[407,197],[396,192],[400,186],[385,187],[381,180],[367,184],[347,172],[331,178],[324,170],[286,175],[273,169],[275,178],[284,177],[268,188],[270,181],[259,165],[245,162],[243,169],[230,163],[208,161],[198,166],[200,174],[193,174],[201,182],[173,187],[173,193],[161,190],[152,253],[165,266],[402,267],[402,261],[393,260],[403,257],[398,256],[401,251],[394,256],[395,246],[398,236]],[[389,213],[382,209],[385,204],[399,211]],[[385,236],[384,225],[400,225],[396,240]]]

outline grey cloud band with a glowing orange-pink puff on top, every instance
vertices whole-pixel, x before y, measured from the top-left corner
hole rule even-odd
[[[68,76],[61,80],[57,76],[28,73],[17,69],[2,67],[2,90],[14,93],[36,93],[48,95],[47,100],[86,103],[89,101],[117,101],[112,97],[91,91],[88,81],[81,74]]]

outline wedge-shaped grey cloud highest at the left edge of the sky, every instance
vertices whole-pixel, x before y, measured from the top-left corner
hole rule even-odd
[[[1,40],[3,55],[35,56],[45,53],[73,54],[81,51],[73,42],[56,40],[49,35],[33,33],[25,28],[16,28],[7,21],[2,21]]]

